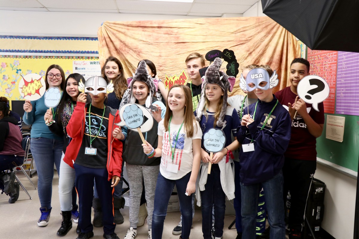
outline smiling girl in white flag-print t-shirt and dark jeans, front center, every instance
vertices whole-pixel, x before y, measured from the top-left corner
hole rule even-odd
[[[158,147],[142,144],[149,157],[160,157],[157,178],[152,238],[161,239],[167,205],[174,185],[178,192],[182,214],[180,238],[190,236],[192,226],[192,196],[201,160],[202,131],[192,114],[191,90],[187,86],[174,85],[168,92],[164,119],[158,124]]]

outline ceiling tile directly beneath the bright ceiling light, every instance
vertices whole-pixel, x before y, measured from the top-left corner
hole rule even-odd
[[[139,1],[139,0],[116,0],[120,10],[134,11],[156,11],[162,14],[173,14],[174,12],[188,12],[192,3],[175,3],[162,1]],[[171,13],[168,13],[171,12]]]

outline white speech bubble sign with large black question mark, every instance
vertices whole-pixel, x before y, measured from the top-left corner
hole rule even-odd
[[[299,81],[297,92],[304,102],[312,104],[314,110],[319,111],[318,104],[329,96],[329,85],[320,76],[309,75]]]

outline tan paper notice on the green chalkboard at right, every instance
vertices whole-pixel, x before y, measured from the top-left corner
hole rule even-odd
[[[325,138],[343,142],[345,117],[327,115]]]

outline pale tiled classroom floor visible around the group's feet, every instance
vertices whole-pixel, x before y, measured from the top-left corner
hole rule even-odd
[[[15,204],[9,204],[9,197],[5,194],[0,195],[0,238],[26,238],[26,239],[51,239],[51,238],[60,238],[56,235],[56,231],[60,228],[61,225],[61,215],[60,215],[60,203],[59,203],[59,194],[58,194],[58,183],[59,178],[55,171],[55,178],[53,180],[53,190],[52,190],[52,211],[50,222],[45,227],[37,226],[37,220],[40,216],[40,203],[37,194],[37,190],[31,186],[30,182],[25,178],[25,175],[22,172],[17,172],[17,176],[27,188],[28,192],[32,196],[32,200],[29,200],[27,194],[20,187],[20,196],[19,200]],[[37,185],[37,175],[32,178],[32,181]],[[122,239],[127,229],[129,228],[129,208],[125,207],[121,210],[125,223],[116,226],[115,232],[118,237]],[[228,229],[230,223],[234,220],[233,215],[226,215],[224,221],[224,234],[223,238],[236,238],[237,231],[235,227],[231,230]],[[180,212],[169,212],[165,223],[164,231],[162,238],[172,239],[179,238],[179,235],[173,235],[172,230],[174,226],[177,225],[180,219]],[[196,210],[195,217],[193,219],[193,227],[191,230],[190,238],[200,239],[202,236],[202,217],[201,211]],[[77,237],[76,234],[77,224],[73,223],[73,229],[67,233],[63,238],[73,238]],[[146,239],[147,238],[147,224],[140,227],[137,230],[136,239]],[[102,228],[94,228],[94,239],[102,238]]]

